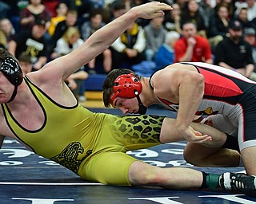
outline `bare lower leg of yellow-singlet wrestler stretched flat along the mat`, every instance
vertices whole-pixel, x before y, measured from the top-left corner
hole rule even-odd
[[[218,188],[218,175],[210,176],[211,184],[207,185],[210,184],[213,189]],[[134,186],[160,186],[174,190],[199,189],[202,187],[203,175],[201,171],[190,168],[160,168],[137,161],[130,165],[129,180]]]

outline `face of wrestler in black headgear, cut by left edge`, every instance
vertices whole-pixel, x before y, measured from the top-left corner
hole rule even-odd
[[[0,104],[7,103],[14,92],[14,85],[0,72]]]

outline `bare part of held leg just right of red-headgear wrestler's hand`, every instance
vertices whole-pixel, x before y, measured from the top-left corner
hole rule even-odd
[[[226,134],[222,131],[218,131],[206,124],[192,123],[190,126],[195,130],[202,133],[202,135],[210,135],[212,140],[202,143],[206,147],[222,147],[226,142]]]

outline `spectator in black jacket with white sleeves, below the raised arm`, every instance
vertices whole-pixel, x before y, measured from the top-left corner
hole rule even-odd
[[[130,68],[145,60],[146,38],[144,29],[136,22],[131,24],[121,37],[111,45],[112,69]]]

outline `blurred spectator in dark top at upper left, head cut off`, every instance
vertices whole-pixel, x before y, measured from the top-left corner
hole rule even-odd
[[[46,22],[46,29],[50,26],[51,13],[42,0],[30,0],[30,4],[20,12],[21,29],[31,30],[37,19],[43,19]]]

